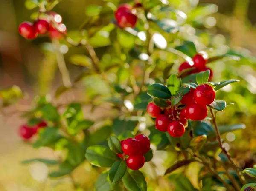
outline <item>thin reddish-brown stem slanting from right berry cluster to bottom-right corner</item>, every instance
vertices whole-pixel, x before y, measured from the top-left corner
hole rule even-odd
[[[227,149],[222,145],[222,142],[221,142],[221,135],[220,135],[220,132],[218,130],[218,126],[217,126],[217,123],[216,123],[216,117],[215,115],[213,114],[213,111],[212,109],[210,109],[210,112],[211,112],[211,115],[212,115],[212,123],[215,127],[215,131],[216,131],[216,135],[217,135],[217,140],[218,140],[218,143],[220,145],[220,148],[221,150],[224,152],[224,154],[227,156],[228,160],[230,161],[231,165],[233,166],[234,170],[236,171],[236,174],[238,175],[239,177],[239,180],[243,183],[243,184],[246,184],[245,182],[245,179],[244,179],[244,176],[241,174],[241,172],[239,171],[239,168],[236,166],[235,162],[233,161],[233,159],[231,158],[229,152],[227,151]]]

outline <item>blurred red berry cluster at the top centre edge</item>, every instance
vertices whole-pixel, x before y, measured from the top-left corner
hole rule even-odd
[[[132,12],[134,7],[129,4],[122,4],[115,13],[116,21],[120,28],[134,27],[137,23],[137,16]]]

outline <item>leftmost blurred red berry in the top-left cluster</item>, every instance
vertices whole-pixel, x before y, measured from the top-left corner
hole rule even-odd
[[[19,33],[21,36],[27,39],[34,39],[38,35],[35,26],[30,22],[21,23],[19,26]]]

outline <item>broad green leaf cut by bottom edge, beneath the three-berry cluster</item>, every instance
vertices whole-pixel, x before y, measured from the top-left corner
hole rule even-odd
[[[147,182],[140,171],[127,170],[122,181],[128,191],[147,191]]]

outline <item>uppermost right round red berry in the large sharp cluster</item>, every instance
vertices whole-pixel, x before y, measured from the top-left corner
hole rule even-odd
[[[209,105],[215,100],[215,90],[208,84],[195,88],[194,99],[201,105]]]

